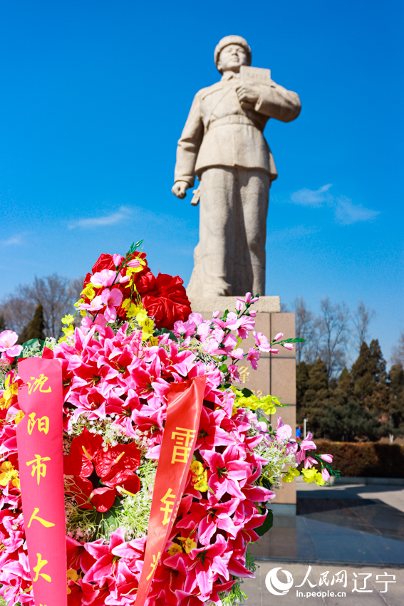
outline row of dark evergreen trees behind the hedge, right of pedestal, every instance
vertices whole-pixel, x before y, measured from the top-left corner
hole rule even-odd
[[[326,363],[300,362],[296,366],[297,420],[309,419],[315,437],[333,440],[378,440],[404,434],[404,370],[394,365],[390,374],[378,340],[362,343],[351,372],[344,367],[328,380]]]

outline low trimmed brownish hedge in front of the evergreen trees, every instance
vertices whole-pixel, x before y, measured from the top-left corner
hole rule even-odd
[[[404,478],[404,446],[379,442],[316,440],[318,454],[332,454],[341,476]]]

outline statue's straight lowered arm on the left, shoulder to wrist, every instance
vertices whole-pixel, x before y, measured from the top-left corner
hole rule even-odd
[[[195,182],[195,164],[203,139],[204,126],[200,105],[200,93],[197,93],[177,147],[174,180],[187,182],[188,187],[193,187]]]

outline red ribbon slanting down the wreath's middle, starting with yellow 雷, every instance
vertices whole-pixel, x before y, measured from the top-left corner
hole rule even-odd
[[[152,496],[145,562],[135,606],[143,606],[185,489],[200,426],[206,377],[173,383]]]

